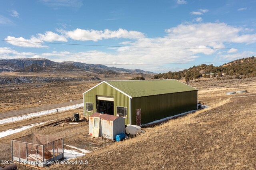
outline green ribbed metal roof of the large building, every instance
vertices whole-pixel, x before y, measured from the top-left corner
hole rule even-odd
[[[105,81],[130,97],[142,97],[198,90],[178,80]]]

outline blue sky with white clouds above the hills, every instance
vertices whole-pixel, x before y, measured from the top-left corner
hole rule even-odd
[[[1,0],[0,59],[164,73],[256,56],[255,29],[256,0]]]

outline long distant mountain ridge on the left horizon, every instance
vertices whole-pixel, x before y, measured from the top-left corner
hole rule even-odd
[[[102,64],[87,64],[74,61],[54,62],[45,58],[0,59],[0,71],[56,72],[90,71],[98,74],[142,73],[154,74],[140,69],[108,67]]]

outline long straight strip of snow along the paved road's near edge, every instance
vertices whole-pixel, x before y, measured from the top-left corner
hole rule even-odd
[[[83,107],[83,103],[80,103],[80,104],[77,104],[77,105],[72,105],[72,106],[66,106],[66,107],[60,107],[60,108],[57,108],[58,111],[68,111],[70,109],[77,109],[79,107]],[[42,115],[48,115],[48,114],[51,114],[51,113],[56,113],[57,110],[56,109],[51,109],[51,110],[46,110],[46,111],[41,111],[41,112],[37,112],[37,113],[30,113],[28,115],[22,115],[22,116],[16,116],[16,117],[10,117],[10,118],[6,118],[6,119],[2,119],[0,120],[0,125],[4,124],[4,123],[11,123],[12,120],[14,122],[16,121],[22,121],[24,119],[29,119],[29,118],[32,118],[32,117],[39,117],[39,116],[42,116]]]

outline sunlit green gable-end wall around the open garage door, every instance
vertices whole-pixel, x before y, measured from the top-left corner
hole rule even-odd
[[[96,96],[97,95],[114,97],[114,115],[115,116],[116,116],[116,106],[127,107],[127,118],[125,118],[125,124],[126,125],[129,124],[130,98],[124,95],[123,93],[117,91],[110,85],[107,85],[106,83],[102,83],[84,94],[84,114],[86,116],[93,114],[92,112],[85,111],[86,102],[93,103],[93,107],[94,107],[93,111],[94,113],[96,112]]]

